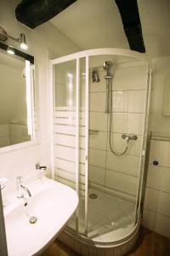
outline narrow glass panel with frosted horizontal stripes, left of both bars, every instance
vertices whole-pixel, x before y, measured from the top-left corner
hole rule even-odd
[[[54,177],[76,189],[77,62],[54,65]],[[69,227],[76,230],[76,218]]]

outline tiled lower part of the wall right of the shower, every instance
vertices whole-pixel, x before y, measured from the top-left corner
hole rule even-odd
[[[170,139],[151,140],[144,199],[144,226],[170,238]],[[154,161],[158,165],[154,165]]]

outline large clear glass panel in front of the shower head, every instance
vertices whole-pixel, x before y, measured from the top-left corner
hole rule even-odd
[[[134,225],[147,66],[99,55],[89,74],[88,237],[113,241]]]

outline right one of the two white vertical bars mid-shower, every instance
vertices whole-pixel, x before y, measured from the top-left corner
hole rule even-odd
[[[85,236],[88,236],[88,111],[89,111],[89,104],[88,104],[88,56],[86,57],[86,108],[85,108]]]

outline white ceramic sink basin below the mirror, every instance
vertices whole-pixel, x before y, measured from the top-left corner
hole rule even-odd
[[[42,253],[77,208],[76,191],[62,183],[43,177],[28,187],[28,201],[16,199],[4,209],[8,256]]]

